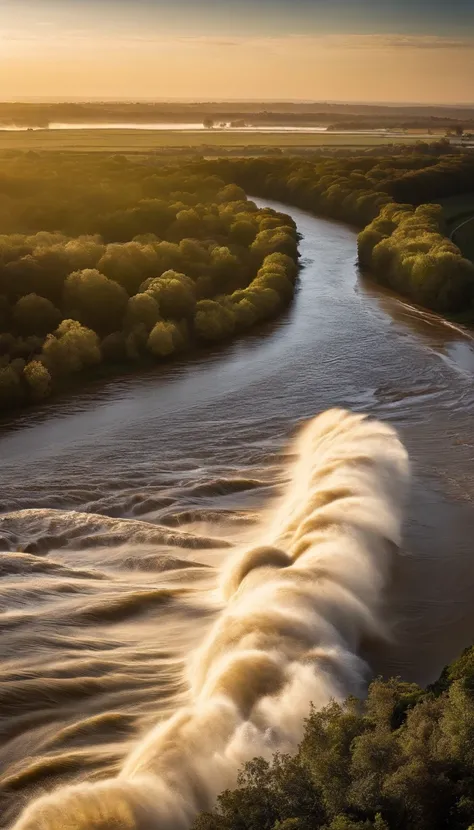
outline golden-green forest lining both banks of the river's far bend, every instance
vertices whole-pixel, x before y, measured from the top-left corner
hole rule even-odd
[[[474,264],[433,203],[473,191],[474,155],[443,143],[181,161],[12,152],[0,164],[0,409],[275,317],[294,294],[297,229],[247,193],[350,222],[372,276],[472,314]]]

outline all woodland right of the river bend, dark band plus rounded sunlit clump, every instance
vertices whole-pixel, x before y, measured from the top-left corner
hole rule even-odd
[[[474,265],[446,237],[441,208],[424,203],[474,191],[474,155],[227,159],[206,169],[251,193],[365,226],[359,259],[378,280],[437,311],[472,307]]]

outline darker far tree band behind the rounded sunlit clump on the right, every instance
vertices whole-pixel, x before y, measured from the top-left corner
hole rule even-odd
[[[364,227],[390,201],[420,205],[474,190],[474,154],[405,152],[316,159],[222,159],[203,163],[208,174],[236,182],[247,193],[288,201]]]

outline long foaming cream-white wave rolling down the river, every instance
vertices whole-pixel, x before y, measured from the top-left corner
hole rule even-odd
[[[295,449],[258,544],[223,569],[189,704],[138,741],[116,777],[40,798],[15,830],[186,830],[243,762],[296,748],[311,703],[363,693],[361,646],[389,634],[406,452],[389,427],[339,410],[310,422]]]

